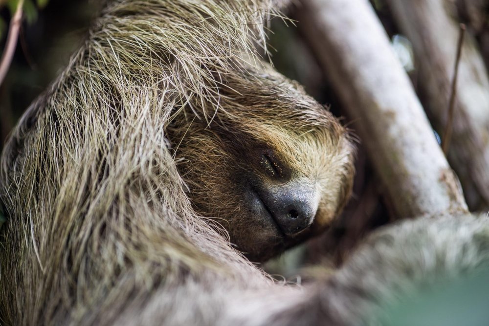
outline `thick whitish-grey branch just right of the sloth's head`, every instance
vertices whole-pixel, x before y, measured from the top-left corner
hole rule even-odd
[[[467,210],[411,83],[367,0],[303,0],[299,26],[399,217]]]

